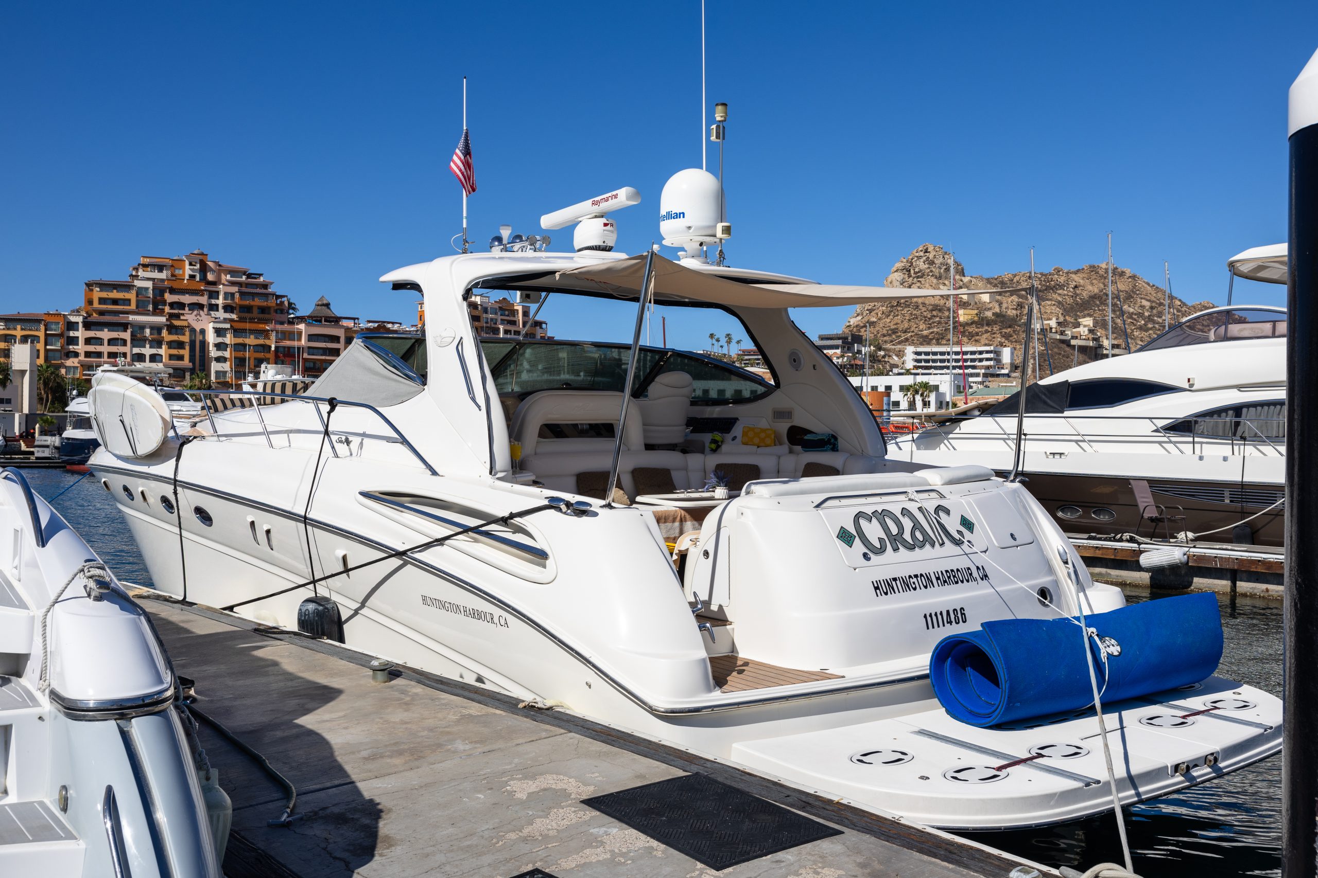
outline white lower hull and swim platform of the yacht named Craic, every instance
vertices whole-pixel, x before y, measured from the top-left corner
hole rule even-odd
[[[163,496],[171,491],[169,482],[145,479],[142,473],[134,473],[129,482],[123,470],[95,469],[98,475],[113,479],[111,487],[116,499],[123,495],[120,508],[142,548],[153,579],[163,590],[185,596],[178,528],[173,517],[158,515],[138,500],[128,500],[119,484],[136,486],[137,495],[145,488],[149,495]],[[212,540],[196,533],[195,525],[183,529],[186,598],[198,603],[228,606],[304,581],[304,562],[287,552],[287,546],[283,546],[286,554],[275,550],[281,540],[310,537],[311,545],[319,549],[315,563],[322,575],[394,549],[355,529],[361,527],[360,512],[336,516],[333,521],[327,512],[318,512],[302,532],[297,504],[279,508],[191,483],[179,487],[179,504],[188,511],[204,507],[212,528],[235,523],[239,537],[228,532],[216,533],[219,538]],[[269,538],[264,536],[268,527]],[[244,530],[246,540],[241,538]],[[594,573],[605,575],[604,570]],[[1021,758],[1037,744],[1085,740],[1093,735],[1091,717],[1066,717],[1061,728],[1043,725],[1037,732],[1023,729],[1004,735],[998,729],[973,729],[946,716],[923,673],[871,679],[813,695],[783,692],[782,698],[759,703],[753,699],[742,704],[725,702],[717,710],[647,703],[643,696],[627,691],[610,667],[573,649],[561,632],[500,599],[498,592],[509,584],[493,582],[488,570],[484,579],[473,575],[472,569],[464,566],[461,553],[438,548],[406,561],[389,559],[333,577],[315,590],[295,588],[257,600],[239,611],[261,623],[295,628],[298,604],[314,591],[328,595],[340,607],[344,642],[353,649],[486,686],[526,702],[572,710],[652,740],[730,760],[803,788],[825,791],[875,812],[902,813],[928,825],[958,829],[1039,825],[1091,816],[1110,807],[1103,775],[1091,777],[1097,769],[1087,763],[1090,781],[1085,782],[1074,781],[1077,771],[1068,775],[1074,766],[1060,773],[1033,766],[1011,769],[1006,773],[1012,775],[1010,779],[996,786],[975,785],[973,790],[953,773],[958,766],[992,767]],[[1137,767],[1130,777],[1119,778],[1124,802],[1165,795],[1276,750],[1276,735],[1271,729],[1276,725],[1273,713],[1280,716],[1277,699],[1230,681],[1215,681],[1214,686],[1244,692],[1255,704],[1249,713],[1255,725],[1217,723],[1215,728],[1213,723],[1203,723],[1209,735],[1198,740],[1169,741],[1166,735],[1153,729],[1128,735],[1123,756]],[[1131,710],[1189,712],[1189,708],[1181,710],[1181,702],[1173,704],[1173,695],[1151,703],[1111,706],[1110,721],[1119,727]],[[861,762],[851,758],[861,752],[887,748],[890,738],[917,740],[916,748],[891,744],[896,749],[919,750],[917,761],[888,771],[874,770],[863,758]],[[986,748],[1002,756],[986,757]],[[1217,767],[1205,762],[1209,754]],[[1093,757],[1089,761],[1093,762]],[[937,770],[931,767],[934,762]],[[1177,771],[1180,762],[1199,767]]]

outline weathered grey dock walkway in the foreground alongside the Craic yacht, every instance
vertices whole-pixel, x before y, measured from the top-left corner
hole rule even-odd
[[[265,756],[285,792],[207,725],[233,800],[228,878],[1007,878],[1024,861],[965,839],[650,741],[561,710],[398,666],[298,632],[137,590],[196,707]],[[840,833],[722,871],[583,804],[705,774]],[[1027,865],[1016,875],[1056,875]],[[1037,869],[1037,873],[1036,873]]]

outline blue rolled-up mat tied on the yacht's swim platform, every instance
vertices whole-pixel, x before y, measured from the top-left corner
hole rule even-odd
[[[1104,671],[1097,644],[1087,640],[1104,704],[1198,683],[1222,659],[1222,616],[1210,594],[1131,604],[1086,623],[1120,646],[1107,656]],[[970,725],[1077,711],[1094,703],[1085,642],[1074,619],[986,621],[938,641],[929,679],[948,713]]]

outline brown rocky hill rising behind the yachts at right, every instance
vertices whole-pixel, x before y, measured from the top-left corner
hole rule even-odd
[[[892,266],[892,272],[883,282],[883,286],[946,290],[949,288],[948,261],[946,250],[934,244],[923,244],[911,255],[899,259]],[[957,262],[956,272],[957,290],[966,290],[971,294],[975,290],[1029,286],[1028,271],[986,278],[966,275],[965,266]],[[1058,266],[1052,271],[1039,271],[1035,275],[1035,283],[1039,287],[1044,320],[1056,320],[1060,329],[1070,329],[1079,325],[1081,319],[1093,317],[1094,326],[1106,333],[1106,265],[1087,265],[1079,269]],[[1112,284],[1112,336],[1118,348],[1123,344],[1123,334],[1115,291],[1120,291],[1122,303],[1126,307],[1126,329],[1130,333],[1132,348],[1139,348],[1162,332],[1162,287],[1149,283],[1133,271],[1115,266]],[[994,301],[981,299],[983,296],[970,295],[961,300],[963,344],[1015,348],[1016,355],[1020,357],[1027,297],[1006,295],[998,296]],[[1211,307],[1209,301],[1189,304],[1173,296],[1172,323],[1209,307]],[[866,324],[870,325],[871,341],[882,345],[890,357],[900,358],[907,345],[948,344],[948,303],[945,299],[904,299],[859,305],[844,329],[863,333]],[[1052,353],[1053,369],[1058,371],[1091,358],[1085,349],[1073,348],[1058,338],[1049,340],[1048,350]],[[1098,353],[1103,348],[1098,346],[1093,350]],[[1041,362],[1045,362],[1043,357]],[[1044,374],[1048,374],[1046,366],[1044,366]]]

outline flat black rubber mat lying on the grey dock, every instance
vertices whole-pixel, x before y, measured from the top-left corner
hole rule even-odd
[[[714,870],[842,835],[704,774],[597,795],[581,804]]]

